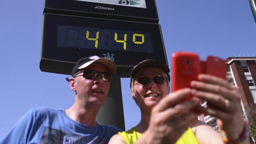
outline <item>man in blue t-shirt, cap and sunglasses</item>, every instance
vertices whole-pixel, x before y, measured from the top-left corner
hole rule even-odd
[[[97,56],[78,60],[69,86],[75,102],[69,109],[34,108],[28,111],[0,144],[107,144],[121,131],[96,122],[110,86],[116,65]]]

